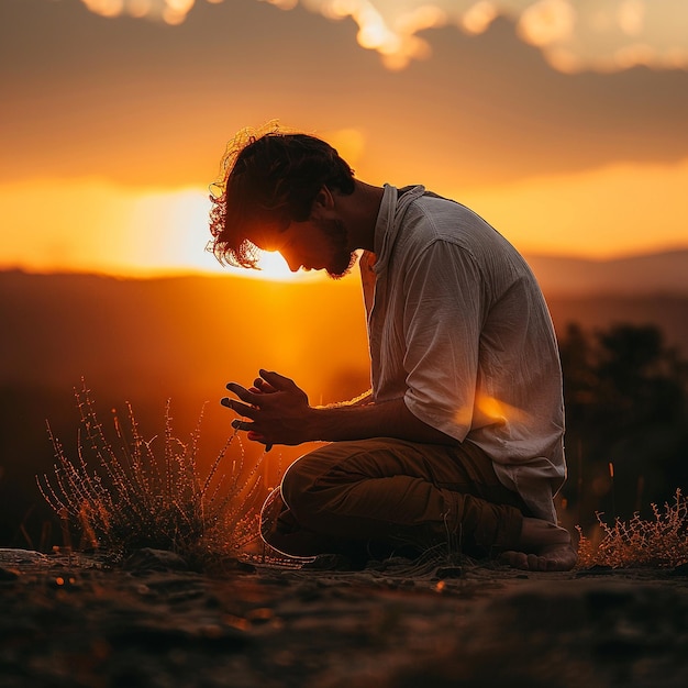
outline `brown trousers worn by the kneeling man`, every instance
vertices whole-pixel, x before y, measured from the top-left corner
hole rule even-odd
[[[446,544],[471,556],[517,545],[521,497],[476,445],[378,437],[334,442],[296,460],[262,512],[263,539],[295,556],[362,556]]]

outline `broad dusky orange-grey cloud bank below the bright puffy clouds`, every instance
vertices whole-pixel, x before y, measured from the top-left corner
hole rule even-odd
[[[431,59],[393,73],[353,21],[300,5],[198,0],[167,27],[0,1],[0,181],[208,185],[225,138],[271,118],[332,141],[367,181],[437,192],[688,156],[687,70],[562,74],[501,18],[434,34]]]

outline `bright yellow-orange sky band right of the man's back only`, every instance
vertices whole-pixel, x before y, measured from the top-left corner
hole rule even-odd
[[[618,164],[464,189],[454,197],[521,252],[612,258],[686,246],[687,188],[685,159],[676,165]],[[452,196],[451,188],[442,191]]]

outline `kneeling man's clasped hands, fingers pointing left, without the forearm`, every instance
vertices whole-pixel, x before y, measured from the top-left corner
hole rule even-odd
[[[278,373],[259,370],[253,387],[228,382],[226,388],[238,399],[224,397],[220,403],[232,409],[241,419],[232,428],[247,431],[247,437],[265,444],[301,444],[308,436],[308,419],[312,411],[308,396],[293,380]]]

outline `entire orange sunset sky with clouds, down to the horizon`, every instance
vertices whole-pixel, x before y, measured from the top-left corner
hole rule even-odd
[[[525,253],[688,247],[685,0],[0,0],[0,268],[217,269],[273,119]]]

